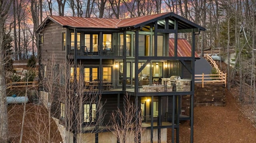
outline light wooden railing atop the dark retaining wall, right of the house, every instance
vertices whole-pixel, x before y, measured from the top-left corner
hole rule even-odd
[[[226,87],[227,74],[220,71],[220,69],[218,68],[218,65],[212,59],[211,56],[207,54],[204,56],[204,58],[207,61],[210,61],[212,63],[212,66],[216,69],[218,74],[204,74],[204,73],[195,74],[195,82],[202,82],[202,88],[204,88],[205,83],[216,83],[216,82],[222,82],[225,84],[225,87]]]

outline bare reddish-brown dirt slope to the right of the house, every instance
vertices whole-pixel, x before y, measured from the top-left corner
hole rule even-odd
[[[194,143],[256,143],[256,129],[226,91],[226,106],[194,108]],[[189,121],[180,125],[180,143],[190,143]]]

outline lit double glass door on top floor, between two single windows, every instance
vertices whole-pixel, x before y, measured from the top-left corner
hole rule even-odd
[[[84,49],[86,52],[98,51],[98,34],[84,34]]]

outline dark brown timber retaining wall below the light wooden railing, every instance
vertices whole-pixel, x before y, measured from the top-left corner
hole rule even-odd
[[[195,84],[195,106],[225,106],[225,84],[223,83],[209,83]]]

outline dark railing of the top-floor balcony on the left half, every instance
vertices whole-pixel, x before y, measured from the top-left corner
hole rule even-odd
[[[74,55],[74,47],[70,45],[67,45],[67,47],[68,47],[68,54]],[[81,46],[77,50],[77,55],[79,56],[124,56],[124,51],[123,51],[122,45],[110,45],[108,47],[104,46],[102,48],[100,46],[94,46],[94,47]]]

